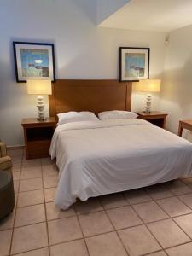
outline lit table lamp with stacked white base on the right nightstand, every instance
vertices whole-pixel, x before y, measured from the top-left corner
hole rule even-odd
[[[143,79],[135,84],[136,91],[149,92],[146,97],[144,113],[151,113],[152,95],[150,92],[160,91],[160,79]]]

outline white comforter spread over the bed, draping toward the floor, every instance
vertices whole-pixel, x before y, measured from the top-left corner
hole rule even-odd
[[[191,174],[192,143],[142,119],[59,125],[50,147],[59,183],[55,205]]]

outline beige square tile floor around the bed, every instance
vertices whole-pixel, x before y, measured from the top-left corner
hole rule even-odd
[[[14,163],[16,205],[0,222],[0,256],[192,256],[192,178],[55,208],[49,158]]]

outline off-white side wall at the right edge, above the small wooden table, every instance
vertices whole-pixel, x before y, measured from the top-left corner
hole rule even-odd
[[[192,26],[170,34],[170,44],[166,48],[160,108],[169,113],[166,126],[175,133],[179,119],[191,119]]]

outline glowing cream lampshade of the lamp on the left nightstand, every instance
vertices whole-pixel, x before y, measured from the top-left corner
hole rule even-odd
[[[27,93],[38,95],[52,94],[51,80],[27,80]]]

